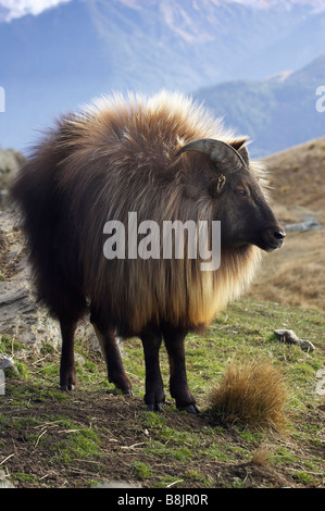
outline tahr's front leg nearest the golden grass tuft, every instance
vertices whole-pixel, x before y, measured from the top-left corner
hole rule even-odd
[[[176,407],[189,413],[198,413],[196,399],[189,390],[185,365],[185,337],[187,332],[165,325],[164,341],[170,359],[170,390]]]

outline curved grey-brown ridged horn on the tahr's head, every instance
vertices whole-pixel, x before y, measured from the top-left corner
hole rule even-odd
[[[228,169],[229,165],[232,165],[233,170],[237,170],[239,166],[247,166],[243,159],[235,148],[221,140],[214,140],[213,138],[193,140],[179,149],[176,157],[186,151],[202,152],[210,157],[211,160],[221,167]]]

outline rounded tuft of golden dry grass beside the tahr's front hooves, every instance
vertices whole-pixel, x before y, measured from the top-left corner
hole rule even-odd
[[[224,423],[276,431],[286,424],[287,399],[280,372],[265,360],[230,361],[209,396],[210,412]]]

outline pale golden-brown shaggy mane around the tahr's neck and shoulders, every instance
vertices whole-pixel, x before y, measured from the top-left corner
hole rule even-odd
[[[60,150],[68,154],[59,180],[65,191],[74,191],[71,210],[79,226],[85,292],[93,303],[107,303],[121,332],[138,334],[150,322],[165,320],[185,327],[208,325],[246,289],[261,258],[253,246],[222,251],[214,272],[200,271],[199,260],[108,261],[98,249],[105,240],[105,222],[126,225],[133,211],[139,222],[160,225],[164,220],[217,220],[211,198],[186,197],[184,183],[196,158],[180,161],[175,154],[192,139],[229,144],[237,138],[232,130],[190,99],[161,92],[149,100],[97,100],[83,113],[63,119],[58,135]],[[251,167],[263,177],[259,164]]]

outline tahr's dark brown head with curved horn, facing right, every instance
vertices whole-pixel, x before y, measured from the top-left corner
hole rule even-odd
[[[280,248],[286,236],[266,202],[263,190],[249,167],[246,139],[225,144],[204,138],[184,146],[177,154],[204,154],[197,161],[198,177],[215,201],[215,220],[221,221],[224,248],[249,245],[267,252]]]

